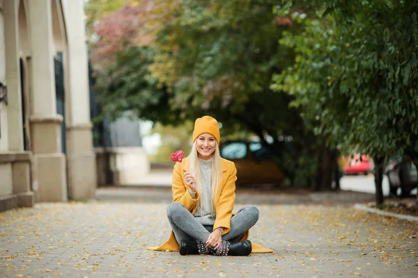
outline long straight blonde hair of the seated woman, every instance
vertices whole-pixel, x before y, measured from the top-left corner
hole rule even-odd
[[[190,172],[194,176],[194,181],[196,183],[196,189],[199,194],[203,193],[203,184],[202,184],[202,170],[199,161],[198,152],[196,149],[196,141],[194,141],[192,146],[192,151],[189,154],[189,161],[190,161]],[[210,213],[215,214],[215,202],[216,202],[216,195],[219,190],[219,183],[222,181],[222,167],[221,167],[221,154],[219,152],[219,145],[216,142],[215,152],[212,154],[212,167],[210,170],[210,183],[212,187],[212,198],[211,198],[211,206],[210,206]],[[203,200],[199,198],[198,206],[202,211],[203,207]]]

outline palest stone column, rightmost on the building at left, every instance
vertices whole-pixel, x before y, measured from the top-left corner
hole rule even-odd
[[[63,0],[68,39],[67,115],[68,183],[72,199],[95,197],[96,170],[93,150],[88,58],[82,0]]]

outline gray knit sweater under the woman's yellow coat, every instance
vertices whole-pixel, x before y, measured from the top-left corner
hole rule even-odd
[[[212,158],[207,161],[199,158],[199,162],[202,170],[203,183],[203,192],[200,193],[200,199],[201,202],[203,202],[203,206],[202,209],[200,206],[197,206],[197,211],[194,213],[194,217],[203,225],[213,225],[215,223],[216,215],[210,213],[210,203],[212,198],[212,186],[210,183],[212,177]],[[190,191],[190,195],[195,197],[196,193],[192,193]]]

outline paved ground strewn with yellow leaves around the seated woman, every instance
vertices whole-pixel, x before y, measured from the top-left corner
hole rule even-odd
[[[169,236],[166,207],[70,202],[0,213],[0,277],[418,277],[417,222],[341,206],[258,205],[250,239],[274,254],[146,251]]]

